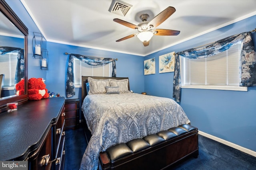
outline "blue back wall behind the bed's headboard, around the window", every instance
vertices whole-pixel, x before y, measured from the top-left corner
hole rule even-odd
[[[51,42],[47,43],[47,47],[49,51],[49,62],[48,70],[46,71],[46,88],[51,92],[59,92],[60,96],[65,96],[68,64],[68,55],[65,55],[65,52],[118,59],[116,61],[116,76],[128,77],[130,80],[130,89],[134,92],[141,93],[144,91],[144,69],[142,64],[144,57]],[[81,88],[76,88],[76,95],[72,98],[81,99],[80,95]]]

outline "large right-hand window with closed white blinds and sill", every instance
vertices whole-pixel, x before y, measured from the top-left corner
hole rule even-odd
[[[180,57],[182,88],[247,91],[239,86],[241,43],[203,59]]]

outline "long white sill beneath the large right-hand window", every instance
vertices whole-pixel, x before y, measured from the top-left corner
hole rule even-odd
[[[240,87],[240,86],[182,85],[181,88],[197,88],[197,89],[210,89],[210,90],[233,90],[233,91],[247,92],[247,87]]]

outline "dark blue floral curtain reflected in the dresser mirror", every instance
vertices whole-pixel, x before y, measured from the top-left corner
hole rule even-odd
[[[16,67],[16,73],[15,73],[15,84],[20,82],[22,78],[24,78],[24,49],[16,48],[16,47],[0,47],[0,55],[18,51],[17,55],[17,67]]]

